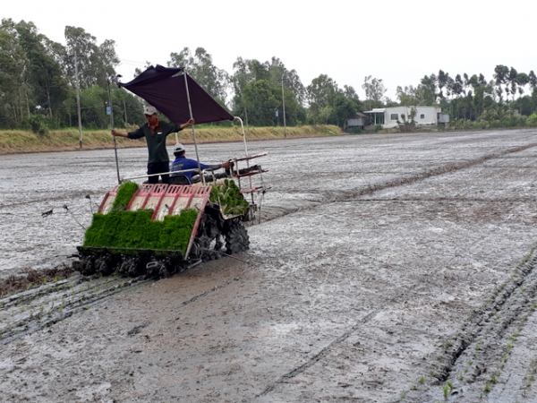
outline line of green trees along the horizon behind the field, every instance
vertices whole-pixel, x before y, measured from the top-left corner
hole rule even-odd
[[[72,26],[65,27],[64,35],[66,45],[39,33],[32,22],[2,20],[0,128],[76,126],[77,82],[84,128],[109,126],[108,81],[120,63],[115,41],[107,39],[99,44],[89,32]],[[340,87],[327,74],[304,86],[298,73],[287,69],[277,57],[266,62],[237,57],[233,72],[227,73],[213,64],[203,47],[193,52],[184,47],[170,54],[167,65],[186,67],[194,80],[234,116],[258,126],[283,124],[284,103],[287,125],[337,124],[344,129],[347,117],[374,107],[434,105],[442,107],[452,119],[483,126],[521,124],[520,116],[530,116],[537,109],[533,71],[518,73],[505,65],[496,66],[490,81],[482,73],[452,77],[440,70],[425,75],[417,87],[397,87],[397,101],[386,98],[383,81],[371,75],[362,85],[364,100],[352,86]],[[141,99],[115,85],[111,92],[115,126],[144,123]],[[534,118],[537,122],[537,115]]]

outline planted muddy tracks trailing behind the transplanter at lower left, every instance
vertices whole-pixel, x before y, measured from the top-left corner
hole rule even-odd
[[[0,299],[0,345],[61,322],[125,289],[151,282],[143,277],[75,276]]]

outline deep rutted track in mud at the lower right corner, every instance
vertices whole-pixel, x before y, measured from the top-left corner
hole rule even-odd
[[[493,391],[502,374],[505,379],[504,368],[516,340],[527,317],[537,309],[535,250],[533,247],[513,275],[473,311],[454,337],[444,341],[428,363],[433,368],[428,381],[408,390],[405,402],[479,402]],[[444,388],[448,390],[446,394]]]

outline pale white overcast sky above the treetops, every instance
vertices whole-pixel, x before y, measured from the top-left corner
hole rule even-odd
[[[372,75],[395,100],[398,85],[416,86],[439,69],[453,77],[483,73],[487,80],[497,64],[537,70],[536,11],[535,0],[18,0],[0,13],[33,21],[63,44],[66,25],[99,44],[115,40],[123,81],[146,61],[166,65],[171,52],[204,47],[228,73],[238,56],[260,62],[276,56],[306,86],[328,74],[363,99],[363,79]]]

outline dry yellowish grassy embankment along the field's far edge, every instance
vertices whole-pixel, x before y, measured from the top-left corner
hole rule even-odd
[[[133,127],[132,130],[135,128]],[[283,127],[245,128],[247,141],[284,139],[286,137],[333,136],[340,133],[339,127],[333,125],[287,127],[286,131],[284,131]],[[196,128],[196,139],[200,143],[243,141],[243,133],[240,126],[221,127],[205,124]],[[183,142],[183,144],[192,144],[192,130],[187,129],[177,133],[177,137],[171,134],[167,138],[168,145],[173,145],[176,141]],[[144,147],[145,141],[143,139],[129,140],[118,137],[116,138],[116,144],[118,148]],[[114,140],[110,135],[110,131],[82,131],[82,150],[111,148],[114,148]],[[15,130],[0,131],[0,155],[72,150],[81,150],[80,134],[77,129],[50,131],[44,135]]]

